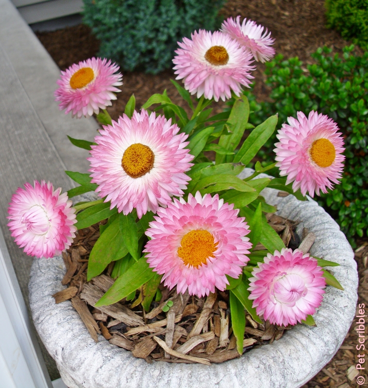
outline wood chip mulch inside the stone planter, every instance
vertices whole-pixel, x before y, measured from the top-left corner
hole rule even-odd
[[[288,195],[279,193],[280,196]],[[279,233],[286,246],[309,252],[316,236],[303,229],[302,241],[295,233],[298,222],[267,213],[268,223]],[[162,298],[151,303],[151,310],[142,308],[141,294],[132,301],[121,300],[111,306],[95,308],[96,302],[112,286],[110,277],[114,262],[104,273],[86,282],[89,253],[100,236],[99,224],[78,231],[63,259],[67,272],[62,280],[68,287],[54,296],[56,303],[71,299],[92,338],[102,334],[110,343],[132,351],[135,357],[151,363],[156,361],[201,363],[223,362],[239,357],[231,325],[229,292],[217,291],[208,297],[177,294],[160,284]],[[261,243],[255,250],[266,249]],[[243,351],[280,339],[285,330],[263,321],[256,323],[246,313]]]

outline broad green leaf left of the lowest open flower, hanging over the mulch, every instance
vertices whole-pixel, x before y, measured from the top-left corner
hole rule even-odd
[[[128,252],[117,218],[100,235],[92,248],[88,260],[87,280],[89,281],[92,277],[100,275],[111,261],[124,257]]]

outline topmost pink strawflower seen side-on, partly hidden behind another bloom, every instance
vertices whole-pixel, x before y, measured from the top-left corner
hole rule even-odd
[[[271,38],[271,32],[263,32],[264,27],[245,18],[240,24],[240,16],[234,20],[229,17],[221,25],[221,31],[229,34],[241,46],[251,51],[254,59],[259,62],[269,61],[275,55],[275,49],[270,47],[275,39]]]

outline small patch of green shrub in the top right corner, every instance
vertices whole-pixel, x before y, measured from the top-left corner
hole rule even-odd
[[[327,23],[345,39],[368,44],[368,0],[326,0]]]

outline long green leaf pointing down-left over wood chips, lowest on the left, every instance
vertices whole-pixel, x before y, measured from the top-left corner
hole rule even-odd
[[[103,235],[102,235],[103,236]],[[96,307],[109,306],[127,297],[147,283],[154,275],[145,257],[136,261],[128,271],[119,276],[110,289],[96,303]]]

